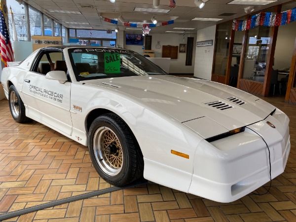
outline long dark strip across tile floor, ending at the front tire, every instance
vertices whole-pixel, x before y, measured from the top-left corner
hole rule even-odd
[[[97,190],[97,191],[92,191],[92,192],[88,192],[88,193],[83,193],[80,195],[76,195],[76,196],[72,196],[72,197],[67,197],[64,199],[60,199],[60,200],[54,200],[48,203],[44,203],[44,204],[40,204],[37,206],[33,206],[33,207],[29,207],[29,208],[25,208],[22,210],[18,210],[18,211],[12,211],[9,213],[5,213],[5,214],[1,214],[0,215],[0,221],[4,221],[10,218],[14,218],[14,217],[18,217],[24,214],[29,214],[35,211],[39,211],[39,210],[44,210],[46,208],[49,207],[55,207],[61,204],[65,204],[65,203],[70,203],[70,202],[74,202],[77,200],[82,200],[82,199],[87,199],[90,197],[94,197],[94,196],[99,196],[99,195],[103,195],[106,193],[111,193],[117,190],[121,190],[121,189],[126,189],[126,188],[131,188],[134,186],[138,186],[138,185],[144,185],[147,184],[147,181],[140,181],[140,182],[135,182],[129,185],[124,185],[124,186],[113,186],[110,188],[106,188],[106,189],[101,189],[101,190]]]

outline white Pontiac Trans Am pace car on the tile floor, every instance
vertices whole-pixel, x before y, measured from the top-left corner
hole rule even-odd
[[[45,47],[1,75],[15,121],[88,146],[112,185],[145,179],[231,202],[284,172],[289,118],[212,81],[175,77],[136,52]]]

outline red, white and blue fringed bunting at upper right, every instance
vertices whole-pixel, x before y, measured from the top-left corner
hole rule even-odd
[[[296,21],[296,8],[281,13],[260,12],[247,20],[234,19],[232,30],[245,31],[257,26],[283,26],[294,21]]]

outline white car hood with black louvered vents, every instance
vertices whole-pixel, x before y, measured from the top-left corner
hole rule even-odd
[[[136,97],[183,123],[208,117],[228,130],[258,122],[275,109],[244,91],[196,78],[129,76],[84,83],[105,86]]]

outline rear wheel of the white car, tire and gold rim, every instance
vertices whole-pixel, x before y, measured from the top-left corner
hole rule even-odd
[[[26,116],[26,108],[14,85],[9,87],[8,103],[11,115],[16,122],[24,123],[31,120]]]

